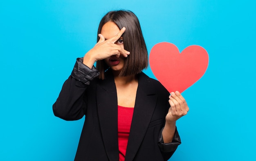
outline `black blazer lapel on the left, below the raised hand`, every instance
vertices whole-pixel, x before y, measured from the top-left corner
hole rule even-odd
[[[110,161],[118,161],[117,91],[114,78],[108,76],[97,85],[97,108],[102,139]]]

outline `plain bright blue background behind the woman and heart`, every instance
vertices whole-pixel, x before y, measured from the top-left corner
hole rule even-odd
[[[182,144],[170,160],[254,161],[252,0],[2,0],[0,160],[74,159],[84,118],[61,120],[52,104],[76,57],[96,43],[101,17],[116,9],[139,17],[148,51],[167,41],[209,54],[207,72],[183,92],[190,111],[177,122]]]

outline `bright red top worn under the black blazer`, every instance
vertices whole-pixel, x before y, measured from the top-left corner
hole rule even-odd
[[[124,161],[134,108],[118,106],[119,161]]]

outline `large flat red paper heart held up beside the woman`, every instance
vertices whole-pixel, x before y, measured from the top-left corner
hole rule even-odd
[[[204,75],[209,57],[201,46],[188,46],[180,53],[174,44],[161,42],[151,49],[149,63],[155,77],[170,93],[182,93]]]

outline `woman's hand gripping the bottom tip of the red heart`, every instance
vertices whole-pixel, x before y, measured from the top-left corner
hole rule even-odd
[[[166,115],[166,122],[171,124],[176,122],[176,120],[178,120],[180,117],[186,115],[189,111],[189,107],[186,103],[186,100],[178,91],[175,93],[171,92],[169,98],[171,107],[169,108],[169,111]]]

